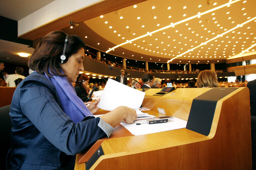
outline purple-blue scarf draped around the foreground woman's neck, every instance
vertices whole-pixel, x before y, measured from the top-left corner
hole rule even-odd
[[[76,95],[73,85],[68,82],[66,77],[52,75],[52,78],[45,74],[57,90],[63,111],[70,119],[77,124],[86,116],[93,116],[84,102]]]

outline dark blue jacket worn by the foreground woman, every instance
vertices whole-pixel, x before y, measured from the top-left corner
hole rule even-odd
[[[18,85],[10,116],[13,128],[7,169],[74,166],[74,156],[68,155],[76,155],[108,137],[99,127],[103,121],[100,118],[88,116],[75,125],[63,112],[53,84],[39,73],[32,73]]]

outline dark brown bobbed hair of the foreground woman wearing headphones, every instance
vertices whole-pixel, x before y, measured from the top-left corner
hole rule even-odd
[[[43,74],[66,76],[61,68],[60,56],[63,53],[66,34],[62,31],[52,31],[40,39],[35,51],[31,55],[28,66],[30,69]],[[78,52],[80,48],[85,49],[84,42],[75,35],[68,37],[65,55],[69,58]]]

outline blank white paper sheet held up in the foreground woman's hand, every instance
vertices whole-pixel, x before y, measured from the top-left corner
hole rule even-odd
[[[97,106],[107,111],[112,111],[118,106],[137,109],[141,106],[144,96],[144,92],[109,78]]]

